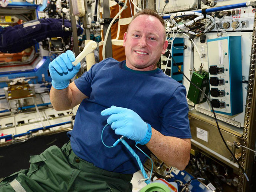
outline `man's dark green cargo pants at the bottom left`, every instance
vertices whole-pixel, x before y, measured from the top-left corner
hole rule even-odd
[[[30,156],[30,168],[0,182],[0,192],[130,192],[132,175],[109,172],[78,158],[70,142]]]

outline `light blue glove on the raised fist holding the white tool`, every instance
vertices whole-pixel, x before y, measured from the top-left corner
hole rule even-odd
[[[52,86],[55,89],[65,89],[68,87],[69,80],[79,72],[81,64],[78,63],[77,66],[73,66],[72,62],[74,61],[74,53],[68,50],[50,62],[49,72],[52,77]]]

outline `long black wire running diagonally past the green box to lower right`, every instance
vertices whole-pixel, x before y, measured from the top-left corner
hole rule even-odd
[[[174,61],[174,59],[173,59],[172,56],[171,56],[171,59],[173,60],[174,64],[178,67],[177,63]],[[178,70],[180,70],[179,67],[178,67]],[[189,79],[187,78],[187,76],[186,76],[181,70],[180,70],[180,72],[183,74],[183,76],[184,76],[192,85],[194,85],[198,90],[200,90],[200,91],[206,96],[207,100],[209,100],[210,105],[211,105],[211,101],[210,101],[209,97],[206,95],[206,93],[204,93],[203,90],[201,90],[198,86],[196,86],[193,82],[191,82],[191,80],[189,80]],[[238,160],[236,159],[235,155],[232,153],[232,151],[231,151],[231,150],[229,149],[229,147],[227,146],[227,143],[226,143],[225,139],[223,138],[223,135],[222,135],[222,133],[221,133],[221,131],[220,131],[220,126],[219,126],[219,123],[218,123],[218,120],[217,120],[217,117],[216,117],[216,114],[215,114],[215,112],[214,112],[214,109],[213,109],[213,106],[212,106],[212,105],[211,105],[211,110],[213,110],[214,119],[215,119],[215,121],[216,121],[217,128],[218,128],[218,130],[219,130],[221,139],[223,140],[223,142],[224,142],[226,148],[229,150],[229,152],[231,153],[231,155],[233,156],[233,158],[236,160],[236,162],[237,162],[239,168],[242,169],[243,173],[246,174],[246,172],[244,171],[244,169],[242,168],[242,166],[240,165],[240,163],[239,163]],[[245,175],[244,175],[244,176],[245,176]],[[247,179],[246,179],[246,180],[247,180]],[[247,180],[247,181],[248,181],[248,180]],[[248,182],[249,182],[249,181],[248,181]],[[249,183],[250,183],[250,182],[249,182]]]

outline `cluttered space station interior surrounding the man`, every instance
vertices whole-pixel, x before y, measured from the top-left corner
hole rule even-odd
[[[132,191],[255,190],[256,1],[244,0],[0,0],[0,181],[69,140],[79,105],[55,110],[49,64],[72,51],[81,69],[71,83],[108,57],[125,60],[128,24],[146,8],[164,19],[157,68],[186,88],[191,150],[184,170],[134,156]]]

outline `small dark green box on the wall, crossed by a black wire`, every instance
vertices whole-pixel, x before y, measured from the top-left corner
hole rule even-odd
[[[198,86],[203,92],[208,95],[209,93],[209,73],[206,71],[193,72],[191,82]],[[190,83],[187,98],[194,104],[203,103],[206,101],[205,95]]]

